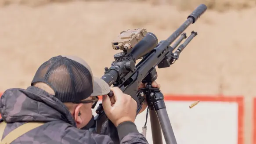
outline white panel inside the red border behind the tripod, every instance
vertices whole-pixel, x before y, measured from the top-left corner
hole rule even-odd
[[[190,109],[188,106],[193,102],[166,101],[178,144],[238,144],[237,103],[200,101]],[[142,131],[145,119],[146,110],[135,121],[139,132]],[[147,126],[147,140],[152,144],[149,116]]]

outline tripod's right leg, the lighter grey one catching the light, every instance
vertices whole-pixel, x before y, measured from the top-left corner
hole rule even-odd
[[[166,140],[166,144],[177,144],[177,141],[173,132],[173,127],[169,120],[169,116],[166,111],[165,102],[163,100],[159,100],[158,104],[155,105],[155,111],[158,116],[158,119],[162,128],[162,133]]]

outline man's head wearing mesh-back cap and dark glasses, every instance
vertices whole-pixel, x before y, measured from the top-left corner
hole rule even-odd
[[[90,66],[75,56],[58,56],[44,62],[34,76],[32,86],[39,87],[62,101],[73,115],[78,128],[92,117],[98,97],[110,92],[108,84],[93,76]]]

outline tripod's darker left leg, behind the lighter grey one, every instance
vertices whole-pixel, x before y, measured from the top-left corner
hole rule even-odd
[[[149,110],[153,144],[162,144],[162,131],[155,110]]]

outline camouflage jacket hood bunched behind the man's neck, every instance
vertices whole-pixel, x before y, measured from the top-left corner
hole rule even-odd
[[[68,108],[56,97],[35,86],[8,89],[0,98],[0,113],[6,122],[65,121],[76,126]]]

